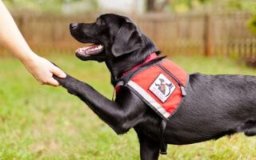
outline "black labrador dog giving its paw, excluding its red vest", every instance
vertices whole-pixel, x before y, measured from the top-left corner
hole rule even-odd
[[[70,32],[78,42],[93,43],[78,49],[76,55],[84,61],[105,62],[113,86],[122,73],[143,62],[149,54],[160,54],[154,42],[130,18],[116,14],[103,14],[94,23],[71,23]],[[167,122],[166,143],[191,144],[238,132],[256,134],[256,77],[206,74],[189,77],[187,95]],[[134,128],[141,159],[158,159],[162,118],[132,90],[121,87],[115,101],[111,101],[70,75],[55,78],[70,94],[86,102],[117,134]]]

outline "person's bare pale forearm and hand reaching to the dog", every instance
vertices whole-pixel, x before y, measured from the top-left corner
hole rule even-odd
[[[0,45],[9,50],[26,66],[26,69],[40,82],[59,86],[53,74],[66,78],[66,74],[51,62],[35,54],[26,43],[10,12],[0,0]]]

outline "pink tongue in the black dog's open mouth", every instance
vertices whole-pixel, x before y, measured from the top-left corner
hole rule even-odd
[[[82,55],[94,55],[94,54],[99,54],[103,50],[102,45],[90,45],[90,46],[85,46],[78,48],[78,50],[75,51],[76,54],[82,54]]]

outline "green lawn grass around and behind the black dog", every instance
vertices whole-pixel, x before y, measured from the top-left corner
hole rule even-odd
[[[67,73],[111,98],[104,64],[73,55],[47,57]],[[256,70],[226,58],[175,56],[188,72],[252,74]],[[0,159],[138,159],[134,130],[117,136],[86,105],[62,87],[40,86],[14,58],[0,59]],[[256,138],[243,134],[168,148],[165,159],[256,159]]]

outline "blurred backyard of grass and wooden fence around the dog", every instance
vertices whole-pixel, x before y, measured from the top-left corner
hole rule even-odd
[[[6,0],[27,42],[39,55],[107,98],[114,91],[103,63],[74,56],[81,43],[70,22],[103,13],[134,19],[163,55],[189,73],[255,71],[255,2],[250,0]],[[0,48],[0,159],[138,159],[134,130],[117,136],[62,87],[41,86],[18,59]],[[256,138],[243,134],[173,146],[159,159],[256,159]]]

